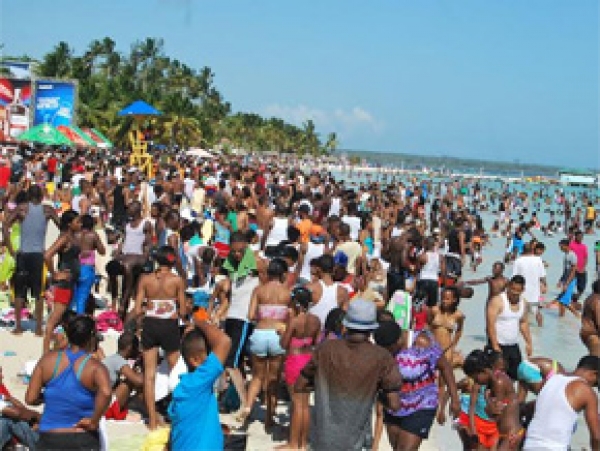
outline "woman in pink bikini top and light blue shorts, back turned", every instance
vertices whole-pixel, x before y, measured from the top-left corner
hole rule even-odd
[[[285,284],[287,264],[274,258],[267,268],[268,282],[252,292],[248,319],[255,321],[250,336],[252,354],[252,381],[248,387],[247,406],[240,415],[241,420],[250,414],[254,400],[261,388],[266,393],[267,417],[265,428],[273,424],[277,406],[277,384],[285,350],[281,347],[278,331],[285,330],[290,315],[290,290]]]

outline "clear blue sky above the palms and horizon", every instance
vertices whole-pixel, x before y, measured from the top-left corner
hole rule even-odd
[[[597,0],[0,0],[7,54],[162,38],[352,150],[600,167]]]

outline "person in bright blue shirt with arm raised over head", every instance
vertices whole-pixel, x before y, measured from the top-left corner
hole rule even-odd
[[[181,375],[169,405],[171,449],[223,449],[215,381],[224,371],[231,340],[205,321],[194,319],[196,328],[181,343],[181,355],[188,373]]]

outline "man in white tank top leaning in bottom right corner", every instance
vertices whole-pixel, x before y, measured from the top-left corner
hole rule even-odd
[[[600,449],[598,387],[600,357],[583,357],[571,375],[555,374],[540,391],[527,428],[525,451],[566,450],[580,412],[590,432],[590,449]]]

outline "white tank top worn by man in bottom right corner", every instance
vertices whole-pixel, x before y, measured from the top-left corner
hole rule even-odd
[[[577,423],[577,412],[567,400],[567,385],[579,377],[555,374],[546,381],[527,428],[524,450],[566,450]]]

